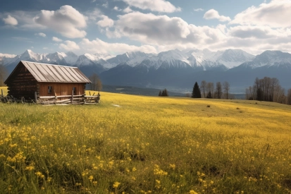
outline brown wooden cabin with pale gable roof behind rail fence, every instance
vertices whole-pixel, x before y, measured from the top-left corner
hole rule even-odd
[[[85,85],[91,81],[77,67],[20,61],[4,83],[8,95],[15,98],[68,99],[72,95],[84,96]]]

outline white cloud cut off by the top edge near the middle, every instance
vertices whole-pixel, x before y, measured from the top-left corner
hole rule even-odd
[[[149,9],[151,11],[159,11],[173,13],[181,11],[180,7],[175,7],[169,1],[165,0],[123,0],[129,6],[134,6],[140,9]]]

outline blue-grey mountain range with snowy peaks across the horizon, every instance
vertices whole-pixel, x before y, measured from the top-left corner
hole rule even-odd
[[[97,73],[104,84],[135,87],[172,88],[190,90],[194,82],[228,81],[233,92],[244,92],[254,79],[275,77],[283,87],[291,87],[291,54],[282,51],[264,51],[252,55],[240,49],[210,51],[209,49],[163,51],[146,54],[140,51],[117,56],[109,54],[82,54],[55,52],[36,54],[27,49],[13,56],[0,54],[11,73],[19,61],[34,61],[63,66],[78,66],[89,76]]]

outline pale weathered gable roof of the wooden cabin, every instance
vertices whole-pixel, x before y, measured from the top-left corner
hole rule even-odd
[[[20,61],[30,71],[37,82],[48,83],[91,83],[78,67],[58,66],[47,63],[35,63],[30,61]],[[18,66],[20,65],[18,63]],[[17,68],[17,66],[16,66]],[[13,70],[13,72],[16,70]],[[11,73],[11,75],[13,74]],[[9,77],[11,76],[9,75]],[[7,78],[7,80],[9,79]],[[6,80],[6,81],[7,81]],[[6,82],[5,81],[5,82]]]

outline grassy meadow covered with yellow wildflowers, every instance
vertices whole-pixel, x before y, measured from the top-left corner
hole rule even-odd
[[[106,92],[89,106],[0,103],[0,193],[290,192],[291,106]]]

